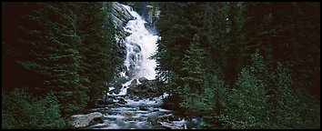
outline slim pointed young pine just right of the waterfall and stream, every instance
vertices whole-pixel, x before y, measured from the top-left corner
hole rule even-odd
[[[203,91],[205,69],[201,62],[204,59],[204,51],[199,47],[199,35],[194,35],[189,49],[183,58],[182,77],[180,77],[183,88],[178,87],[181,92],[183,102],[181,107],[186,108],[187,114],[191,120],[192,114],[196,113],[198,106],[195,105],[196,97]]]

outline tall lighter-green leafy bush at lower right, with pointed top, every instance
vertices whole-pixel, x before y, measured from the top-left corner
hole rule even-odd
[[[236,123],[233,128],[260,128],[267,127],[267,84],[257,77],[257,73],[267,70],[260,55],[253,57],[254,64],[242,69],[236,88],[228,96],[231,104],[229,117]]]

